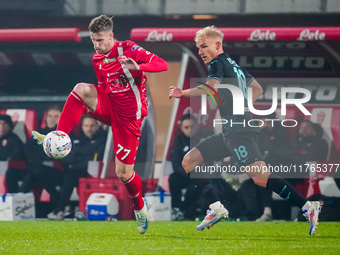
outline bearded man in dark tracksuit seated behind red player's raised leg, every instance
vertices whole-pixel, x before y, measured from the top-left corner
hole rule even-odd
[[[78,186],[79,178],[88,177],[88,161],[102,160],[104,155],[106,132],[99,126],[97,120],[90,115],[82,117],[81,132],[73,139],[70,154],[61,159],[64,171],[49,171],[36,173],[38,180],[49,192],[51,198],[57,201],[53,212],[47,215],[50,220],[63,220],[65,207],[70,202],[73,189]],[[61,186],[60,192],[56,186]]]

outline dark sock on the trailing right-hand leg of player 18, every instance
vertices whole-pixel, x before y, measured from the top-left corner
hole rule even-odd
[[[286,199],[298,207],[302,208],[307,202],[297,190],[290,185],[285,179],[278,175],[270,174],[267,181],[267,189],[274,191],[283,199]]]

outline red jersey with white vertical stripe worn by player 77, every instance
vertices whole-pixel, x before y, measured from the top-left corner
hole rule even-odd
[[[123,55],[135,60],[140,70],[130,71],[121,64],[119,58]],[[132,41],[115,41],[108,53],[94,54],[93,67],[98,86],[109,95],[113,110],[122,119],[138,120],[148,115],[144,71],[165,71],[168,65]]]

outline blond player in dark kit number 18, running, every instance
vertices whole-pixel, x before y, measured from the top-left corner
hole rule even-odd
[[[244,68],[238,66],[222,48],[223,33],[214,26],[209,26],[199,30],[195,37],[198,54],[208,66],[208,77],[206,84],[211,87],[218,85],[223,80],[230,79],[233,84],[244,93],[245,106],[247,102],[247,89],[252,88],[252,101],[262,94],[261,85]],[[200,85],[202,86],[202,85]],[[206,87],[205,87],[206,88]],[[169,88],[169,97],[196,97],[202,95],[204,90],[199,88],[181,90],[177,87]],[[245,167],[254,182],[267,189],[279,194],[280,197],[299,206],[309,223],[309,234],[314,234],[318,223],[318,215],[321,210],[319,202],[307,201],[293,186],[285,179],[272,174],[263,161],[263,157],[255,142],[257,128],[230,125],[230,123],[247,123],[252,118],[249,111],[244,115],[233,114],[233,97],[229,89],[218,89],[222,105],[219,104],[221,117],[228,120],[223,124],[222,132],[208,137],[190,150],[183,159],[183,167],[187,173],[192,171],[195,166],[210,160],[221,160],[233,155],[238,163]],[[239,98],[238,98],[239,99]],[[247,108],[247,107],[246,107]],[[260,170],[260,171],[259,171]],[[203,230],[216,224],[220,219],[228,217],[228,211],[219,201],[216,193],[211,191],[209,210],[203,222],[197,226],[197,230]]]

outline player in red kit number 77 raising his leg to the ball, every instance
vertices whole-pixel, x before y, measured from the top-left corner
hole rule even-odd
[[[142,121],[148,114],[144,72],[166,71],[168,64],[132,41],[116,41],[112,18],[101,15],[92,19],[89,30],[98,86],[82,82],[74,87],[57,130],[69,134],[84,113],[111,126],[116,173],[133,201],[137,229],[143,234],[148,228],[148,214],[134,163]],[[38,143],[43,142],[44,135],[35,131],[32,135]]]

